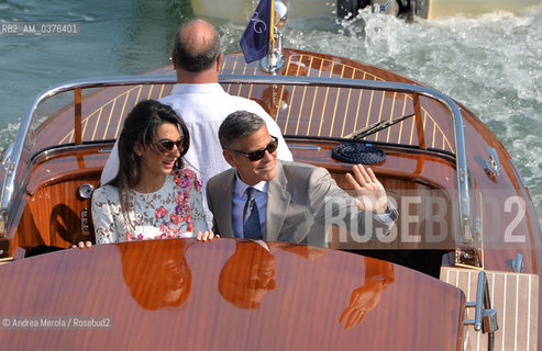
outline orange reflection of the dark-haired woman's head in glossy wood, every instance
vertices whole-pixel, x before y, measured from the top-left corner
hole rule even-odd
[[[132,297],[146,309],[178,307],[188,298],[192,274],[185,240],[147,240],[122,245],[122,274]]]

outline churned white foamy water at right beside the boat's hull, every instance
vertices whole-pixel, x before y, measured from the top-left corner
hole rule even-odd
[[[296,21],[291,46],[390,69],[472,110],[511,154],[542,217],[542,7],[413,23],[362,13],[325,31]]]

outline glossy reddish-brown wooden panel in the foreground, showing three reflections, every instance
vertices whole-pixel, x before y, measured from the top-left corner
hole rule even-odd
[[[389,262],[233,239],[65,250],[0,265],[0,281],[10,324],[110,326],[0,326],[5,350],[460,350],[465,304],[458,288]]]

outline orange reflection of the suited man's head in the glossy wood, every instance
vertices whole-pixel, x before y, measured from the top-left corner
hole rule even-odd
[[[316,260],[322,248],[287,242],[237,241],[235,253],[224,263],[219,278],[219,292],[225,301],[240,308],[259,308],[265,293],[275,290],[275,256],[284,250]]]

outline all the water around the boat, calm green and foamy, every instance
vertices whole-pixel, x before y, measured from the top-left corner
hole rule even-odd
[[[80,23],[77,36],[0,36],[0,148],[13,140],[26,104],[40,91],[167,65],[174,33],[191,16],[186,0],[0,0],[0,24]],[[225,49],[237,50],[244,24],[210,20]],[[286,46],[381,66],[462,102],[508,148],[542,216],[542,7],[521,15],[414,23],[362,14],[339,24],[330,13],[292,19],[284,34]]]

